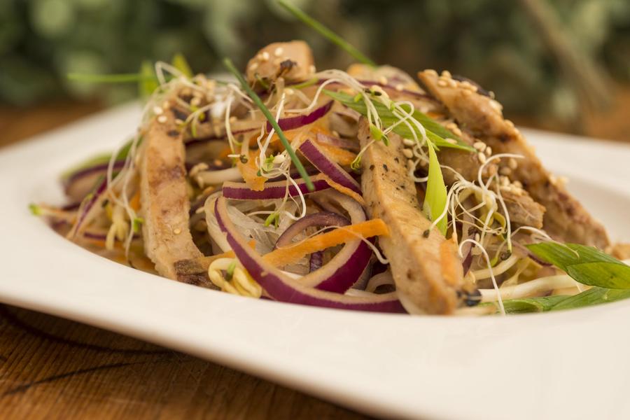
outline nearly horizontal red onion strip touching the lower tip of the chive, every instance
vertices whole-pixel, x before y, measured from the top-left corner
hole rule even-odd
[[[309,191],[303,179],[296,179],[295,184],[304,195],[330,188],[330,185],[328,185],[328,182],[325,180],[325,176],[322,176],[321,174],[311,176],[311,181],[313,181],[313,185],[315,187],[313,191]],[[228,181],[223,183],[223,197],[229,198],[230,200],[277,200],[284,198],[284,195],[287,193],[287,189],[290,197],[299,195],[297,188],[295,188],[293,184],[289,184],[287,186],[287,182],[285,180],[267,182],[265,183],[265,188],[261,191],[255,191],[251,190],[244,182]]]

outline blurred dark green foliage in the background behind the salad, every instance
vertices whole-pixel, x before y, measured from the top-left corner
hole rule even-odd
[[[377,62],[414,73],[450,69],[511,112],[579,118],[630,80],[628,0],[294,0]],[[221,71],[266,43],[304,38],[318,68],[351,57],[266,0],[0,1],[0,102],[60,96],[120,102],[137,84],[76,83],[66,73],[134,73],[185,55]]]

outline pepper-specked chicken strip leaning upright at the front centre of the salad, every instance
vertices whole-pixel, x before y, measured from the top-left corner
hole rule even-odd
[[[370,142],[365,118],[359,122],[361,146]],[[379,237],[389,260],[400,302],[412,313],[451,314],[465,288],[461,259],[452,241],[421,211],[414,182],[407,174],[402,139],[372,144],[363,155],[361,186],[372,218],[382,218],[390,235]]]

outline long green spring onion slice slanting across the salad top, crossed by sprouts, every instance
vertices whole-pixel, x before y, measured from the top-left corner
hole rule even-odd
[[[367,116],[367,106],[365,105],[365,102],[363,102],[363,100],[355,102],[354,97],[351,94],[347,94],[344,92],[332,92],[331,90],[325,89],[323,90],[323,92],[325,92],[325,94],[327,94],[332,99],[341,102],[348,108],[357,111],[363,116]],[[379,114],[379,118],[381,118],[381,122],[383,123],[384,127],[391,127],[395,123],[398,123],[398,121],[400,120],[400,118],[395,116],[384,104],[376,101],[372,102],[372,104],[374,104],[374,108],[376,108],[377,113]],[[410,108],[405,105],[403,105],[402,108],[405,109],[405,111],[407,112],[409,112],[410,110]],[[426,137],[428,137],[428,139],[432,141],[438,149],[440,147],[446,147],[471,152],[475,151],[474,148],[468,146],[468,144],[465,144],[463,141],[461,141],[459,137],[451,133],[446,128],[442,127],[440,123],[437,123],[437,121],[433,120],[433,118],[430,118],[426,114],[415,110],[412,116],[424,127],[424,130],[426,130]],[[410,125],[412,126],[411,129],[407,127],[407,125],[405,125],[404,123],[401,123],[393,129],[393,132],[405,139],[413,139],[413,132],[416,133],[416,137],[421,137],[421,133],[419,132],[419,130],[412,123],[410,123]],[[449,143],[445,139],[454,139],[456,141],[456,144]]]

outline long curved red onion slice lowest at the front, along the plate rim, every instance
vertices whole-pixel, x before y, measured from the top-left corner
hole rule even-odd
[[[235,255],[245,267],[252,278],[265,289],[269,297],[274,300],[287,303],[307,304],[316,307],[328,307],[335,309],[352,309],[357,311],[399,312],[405,309],[398,301],[396,293],[374,295],[369,297],[354,297],[330,293],[324,290],[316,290],[302,285],[299,281],[291,279],[281,270],[269,265],[248,246],[246,239],[241,235],[228,216],[228,201],[225,197],[219,197],[215,202],[214,212],[219,228],[225,232],[228,243]]]

